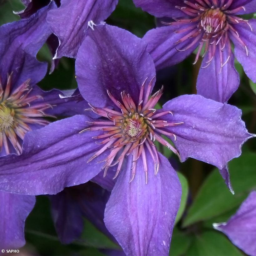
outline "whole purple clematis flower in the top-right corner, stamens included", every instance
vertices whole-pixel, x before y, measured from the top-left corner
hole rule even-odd
[[[194,64],[204,50],[197,79],[198,94],[227,102],[239,86],[234,54],[247,76],[256,82],[256,21],[238,15],[256,11],[255,0],[134,0],[136,6],[156,17],[172,18],[152,29],[143,40],[156,69],[174,65],[197,47]],[[234,43],[234,54],[231,50]]]

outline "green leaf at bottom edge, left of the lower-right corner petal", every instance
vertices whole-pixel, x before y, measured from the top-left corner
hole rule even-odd
[[[217,231],[205,231],[194,238],[189,255],[219,256],[219,255],[244,255],[237,249],[228,238]]]

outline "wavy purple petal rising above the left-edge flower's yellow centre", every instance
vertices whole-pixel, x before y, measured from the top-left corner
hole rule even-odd
[[[18,86],[27,79],[31,79],[31,84],[35,84],[45,76],[47,64],[38,62],[35,57],[52,33],[46,22],[47,12],[52,8],[55,8],[54,2],[29,19],[0,27],[0,76],[3,86],[7,81],[7,73],[12,71],[13,86]]]

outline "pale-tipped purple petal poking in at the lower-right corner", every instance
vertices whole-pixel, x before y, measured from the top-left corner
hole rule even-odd
[[[233,244],[246,254],[256,255],[256,191],[252,191],[238,211],[224,223],[214,223],[214,228],[228,236]]]

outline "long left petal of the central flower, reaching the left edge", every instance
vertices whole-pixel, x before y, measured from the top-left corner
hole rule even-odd
[[[0,158],[0,189],[20,194],[57,194],[65,187],[91,180],[109,151],[86,164],[102,146],[91,139],[102,131],[79,134],[88,127],[87,116],[53,122],[25,135],[22,155]]]

